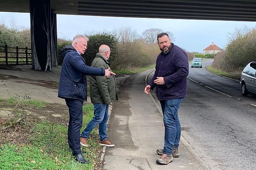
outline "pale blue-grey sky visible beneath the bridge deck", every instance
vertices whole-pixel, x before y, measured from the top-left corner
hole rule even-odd
[[[12,19],[16,20],[18,26],[30,28],[28,13],[0,12],[0,23],[4,22],[9,26]],[[76,34],[91,31],[112,31],[121,26],[131,27],[140,35],[149,28],[171,31],[175,37],[175,45],[187,51],[202,52],[212,42],[220,48],[225,48],[228,32],[233,32],[235,28],[242,26],[254,28],[256,22],[57,15],[58,37],[70,40]]]

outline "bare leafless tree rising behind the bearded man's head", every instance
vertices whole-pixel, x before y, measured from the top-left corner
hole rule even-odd
[[[149,29],[146,29],[145,31],[143,31],[142,35],[145,39],[145,41],[149,44],[151,43],[157,43],[157,35],[162,33],[162,32],[165,32],[169,35],[170,39],[172,41],[174,41],[174,37],[173,37],[173,33],[170,32],[170,31],[164,31],[163,29],[160,29],[160,28],[149,28]]]

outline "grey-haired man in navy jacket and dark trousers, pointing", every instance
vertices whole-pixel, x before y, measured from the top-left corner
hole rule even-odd
[[[85,75],[110,77],[110,68],[93,68],[85,65],[81,54],[87,49],[88,38],[77,35],[73,38],[72,46],[66,45],[61,49],[63,63],[59,81],[58,97],[65,99],[69,108],[68,144],[76,161],[87,163],[81,155],[80,129],[83,121],[83,102],[87,101],[87,82]]]

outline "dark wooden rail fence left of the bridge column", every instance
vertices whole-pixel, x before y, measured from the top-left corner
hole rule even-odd
[[[1,65],[32,65],[31,48],[0,46]]]

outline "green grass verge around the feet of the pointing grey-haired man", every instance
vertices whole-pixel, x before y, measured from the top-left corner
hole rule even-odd
[[[93,118],[93,105],[84,105],[86,112],[83,127]],[[93,130],[91,136],[96,136]],[[94,138],[93,138],[94,139]],[[0,149],[1,170],[92,170],[93,164],[98,161],[95,151],[99,144],[89,139],[90,147],[82,147],[84,155],[90,164],[80,164],[75,161],[67,144],[67,127],[57,123],[40,122],[29,137],[29,144],[21,146],[4,144]]]

